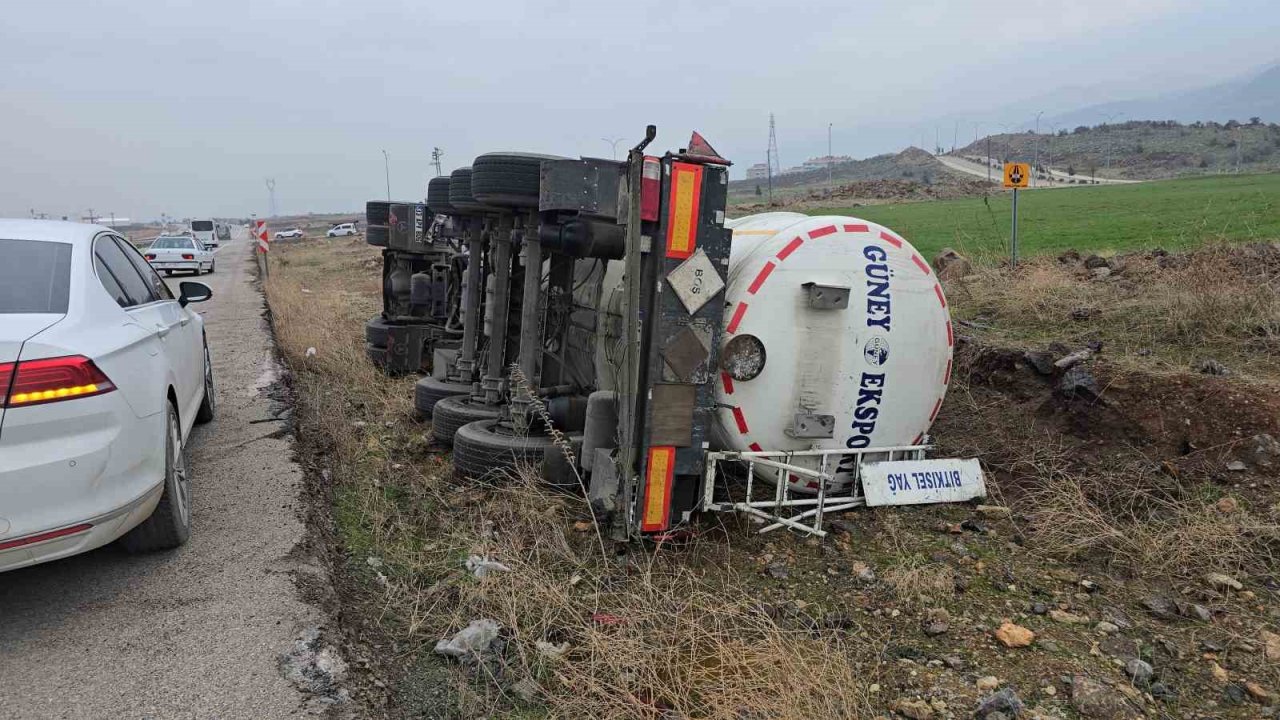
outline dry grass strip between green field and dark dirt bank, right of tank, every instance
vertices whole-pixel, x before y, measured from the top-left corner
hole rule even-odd
[[[1105,281],[1089,279],[1079,263],[1039,258],[1016,273],[980,268],[948,297],[959,318],[1019,343],[1101,340],[1108,356],[1148,369],[1151,360],[1187,369],[1212,357],[1238,373],[1280,379],[1276,245],[1211,245],[1165,260],[1125,256]]]

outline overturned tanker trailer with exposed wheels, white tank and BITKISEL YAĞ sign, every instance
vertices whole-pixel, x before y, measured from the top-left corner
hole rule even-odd
[[[492,152],[430,181],[415,405],[456,478],[535,468],[617,538],[984,495],[975,460],[925,457],[954,345],[928,263],[856,218],[727,219],[730,163],[696,133],[646,154],[654,132],[625,161]]]

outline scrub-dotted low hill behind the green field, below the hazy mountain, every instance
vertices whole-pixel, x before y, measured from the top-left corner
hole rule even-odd
[[[961,147],[955,155],[986,158],[987,140]],[[995,135],[989,141],[996,159],[1030,161],[1038,146],[1042,167],[1074,170],[1076,176],[1155,179],[1236,169],[1280,170],[1280,124],[1263,123],[1258,117],[1189,124],[1130,120],[1076,126],[1057,135]]]

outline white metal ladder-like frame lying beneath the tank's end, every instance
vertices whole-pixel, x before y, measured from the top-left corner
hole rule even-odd
[[[922,460],[931,445],[902,445],[893,447],[865,447],[861,450],[765,450],[765,451],[712,451],[707,454],[707,471],[703,480],[703,496],[699,510],[714,512],[745,512],[771,523],[760,528],[760,533],[768,533],[778,528],[791,528],[804,533],[826,537],[822,529],[822,519],[828,512],[838,512],[865,505],[867,500],[861,492],[863,457],[874,455],[878,460]],[[840,466],[841,460],[854,456],[854,478],[849,488],[836,495],[827,493],[827,484],[833,479],[835,473],[828,473],[827,468]],[[800,468],[791,461],[795,457],[820,457],[817,470]],[[716,498],[716,478],[721,473],[721,462],[739,462],[746,465],[746,498],[732,501]],[[777,473],[773,480],[773,498],[755,500],[755,469],[756,466],[771,468]],[[788,475],[797,475],[813,479],[818,483],[817,495],[800,495],[790,488]],[[765,480],[767,482],[767,480]]]

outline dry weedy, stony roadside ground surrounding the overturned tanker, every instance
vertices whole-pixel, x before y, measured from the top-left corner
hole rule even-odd
[[[824,542],[705,518],[686,546],[602,553],[581,500],[527,478],[449,479],[412,416],[412,379],[364,356],[375,249],[275,246],[268,295],[302,451],[332,501],[340,619],[366,667],[356,693],[376,716],[941,719],[1004,688],[1069,717],[1096,683],[1129,715],[1257,717],[1270,701],[1247,683],[1280,689],[1263,634],[1280,612],[1277,478],[1225,464],[1253,433],[1280,433],[1280,397],[1247,332],[1270,327],[1275,305],[1243,292],[1260,278],[1240,258],[1133,260],[1106,281],[1044,259],[948,288],[970,325],[936,432],[942,451],[983,459],[1010,516],[864,510],[835,518]],[[1073,320],[1078,304],[1097,314]],[[1236,324],[1210,327],[1215,311]],[[1188,370],[1179,338],[1198,336],[1234,375]],[[1089,363],[1101,402],[1064,397],[1023,359],[1089,340],[1103,341]],[[470,556],[509,570],[476,578]],[[1207,584],[1208,571],[1243,589]],[[502,626],[500,653],[433,655],[481,618]],[[993,633],[1006,621],[1034,642],[1005,647]],[[1130,661],[1152,676],[1132,678]]]

